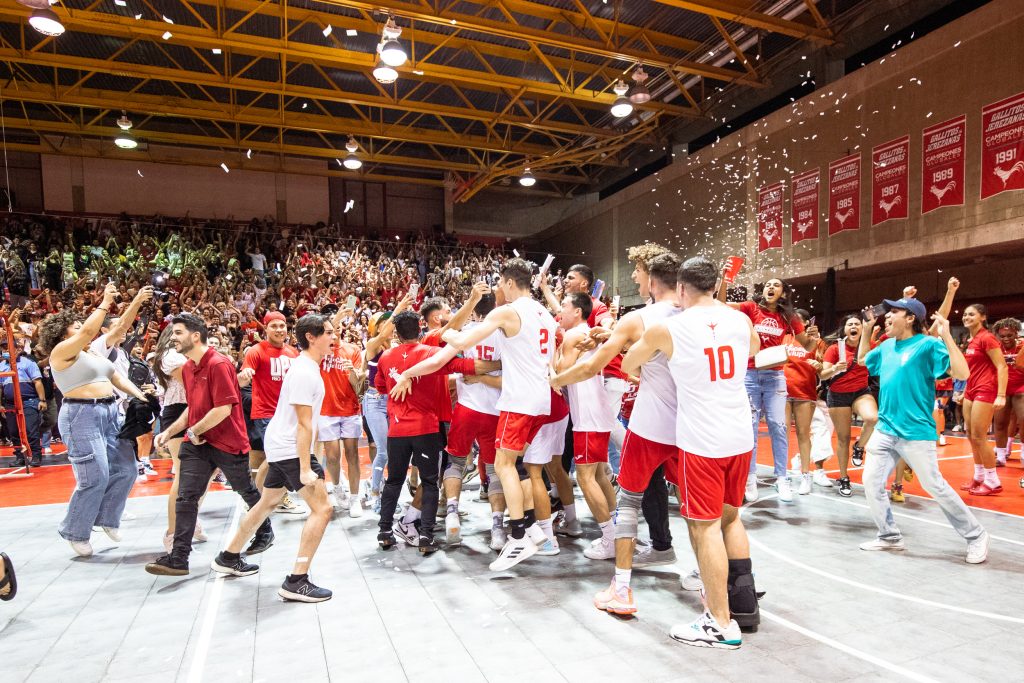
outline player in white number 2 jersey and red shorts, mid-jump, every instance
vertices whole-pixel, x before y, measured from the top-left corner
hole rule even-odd
[[[555,352],[555,321],[530,297],[531,263],[514,258],[505,263],[498,286],[499,301],[507,301],[487,313],[483,322],[465,332],[450,331],[442,339],[455,350],[464,351],[494,332],[502,354],[501,415],[495,446],[495,471],[502,482],[508,505],[511,539],[501,555],[490,563],[502,571],[537,553],[547,537],[536,523],[532,488],[521,457],[551,413],[548,386]],[[528,537],[527,537],[528,535]]]

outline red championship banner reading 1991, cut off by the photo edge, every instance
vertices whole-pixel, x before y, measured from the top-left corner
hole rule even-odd
[[[1024,92],[981,110],[981,199],[1024,189]]]

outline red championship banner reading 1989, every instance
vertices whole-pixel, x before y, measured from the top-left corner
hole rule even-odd
[[[964,206],[967,115],[921,133],[921,213]]]

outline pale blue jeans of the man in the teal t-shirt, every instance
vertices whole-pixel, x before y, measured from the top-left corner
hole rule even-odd
[[[886,490],[889,474],[900,458],[918,475],[922,488],[939,504],[942,514],[965,541],[974,541],[985,532],[964,500],[942,478],[935,439],[910,441],[876,429],[865,450],[864,498],[867,499],[874,525],[879,527],[880,539],[898,541],[903,538],[893,519],[893,508]]]

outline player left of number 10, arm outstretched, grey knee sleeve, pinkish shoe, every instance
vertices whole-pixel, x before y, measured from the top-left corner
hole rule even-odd
[[[615,325],[611,337],[597,349],[593,357],[558,374],[552,379],[552,386],[562,386],[600,373],[602,362],[635,344],[646,329],[678,313],[681,310],[676,294],[679,264],[679,257],[664,248],[649,261],[637,258],[633,280],[640,288],[640,296],[650,298],[652,302],[623,316]],[[677,460],[675,421],[676,385],[667,359],[664,355],[656,354],[640,369],[640,389],[626,432],[618,470],[613,549],[615,575],[607,589],[594,596],[594,605],[598,609],[617,614],[636,612],[636,601],[630,588],[633,567],[672,564],[676,561],[672,537],[668,533],[668,492],[660,472],[668,466],[669,475],[675,479],[675,467],[672,465]],[[659,486],[651,485],[655,480]],[[662,496],[666,500],[657,501],[660,505],[648,505],[648,499]],[[656,519],[648,514],[650,507],[657,511]],[[646,546],[640,555],[634,557],[641,508],[655,543]],[[660,518],[662,513],[664,520]],[[662,528],[663,524],[667,541],[655,537],[655,529]],[[591,548],[586,552],[590,553],[588,556],[593,556],[598,549]]]

